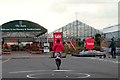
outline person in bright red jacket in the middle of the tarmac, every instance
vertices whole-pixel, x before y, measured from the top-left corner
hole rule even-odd
[[[57,42],[56,44],[53,45],[52,49],[54,51],[57,69],[59,70],[61,65],[62,52],[64,51],[64,46],[62,45],[62,43],[60,43],[60,40],[57,39]]]

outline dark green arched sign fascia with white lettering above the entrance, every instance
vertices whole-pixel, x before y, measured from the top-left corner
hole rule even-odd
[[[47,29],[37,23],[26,20],[14,20],[2,25],[2,32],[40,32],[45,33]]]

